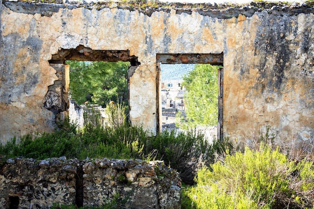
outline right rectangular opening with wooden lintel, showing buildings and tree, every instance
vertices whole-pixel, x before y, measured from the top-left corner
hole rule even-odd
[[[156,58],[161,73],[160,129],[198,127],[209,140],[217,134],[222,139],[223,54],[158,54]]]

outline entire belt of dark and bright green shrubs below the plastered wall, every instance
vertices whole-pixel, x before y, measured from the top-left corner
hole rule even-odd
[[[313,159],[290,159],[279,148],[264,145],[271,137],[266,133],[260,136],[260,146],[240,150],[230,143],[215,141],[209,145],[193,132],[163,132],[147,137],[140,127],[126,123],[104,129],[99,123],[90,122],[78,130],[66,122],[55,133],[34,139],[27,135],[19,144],[13,139],[0,145],[0,153],[5,158],[162,159],[178,168],[197,159],[204,167],[198,171],[197,184],[183,188],[182,208],[313,209]],[[55,208],[75,206],[56,204]]]

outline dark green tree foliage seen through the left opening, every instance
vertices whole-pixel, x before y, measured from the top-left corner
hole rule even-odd
[[[69,91],[78,104],[105,106],[110,101],[127,104],[128,62],[66,61],[70,65]]]

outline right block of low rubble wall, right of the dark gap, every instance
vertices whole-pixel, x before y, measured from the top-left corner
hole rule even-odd
[[[178,175],[162,162],[97,159],[83,170],[84,205],[109,203],[119,194],[126,208],[181,208]]]

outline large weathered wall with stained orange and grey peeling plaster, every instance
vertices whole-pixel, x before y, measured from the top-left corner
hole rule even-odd
[[[223,53],[224,136],[250,141],[252,132],[270,126],[279,145],[313,145],[312,8],[172,9],[148,16],[115,7],[50,5],[31,10],[34,4],[16,9],[19,3],[0,3],[3,142],[14,135],[53,130],[56,115],[44,103],[58,77],[49,61],[60,50],[81,45],[124,50],[137,58],[139,65],[129,73],[134,125],[158,131],[156,55]]]

